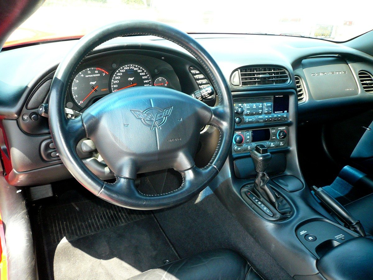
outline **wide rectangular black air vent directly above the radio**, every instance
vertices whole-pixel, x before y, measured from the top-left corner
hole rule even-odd
[[[241,85],[285,84],[289,81],[288,73],[276,67],[256,67],[240,69]]]

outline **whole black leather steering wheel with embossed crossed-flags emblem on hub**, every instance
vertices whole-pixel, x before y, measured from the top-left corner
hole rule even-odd
[[[172,41],[193,55],[204,68],[219,97],[211,108],[176,90],[132,87],[113,92],[90,106],[76,119],[65,114],[65,99],[79,63],[95,47],[120,36],[154,35]],[[219,129],[211,161],[197,168],[200,130]],[[60,63],[49,98],[49,125],[62,162],[86,189],[119,206],[159,209],[182,203],[201,192],[219,173],[231,150],[233,101],[228,83],[209,53],[188,34],[150,21],[125,21],[107,25],[82,37]],[[76,153],[79,140],[88,137],[116,175],[115,183],[96,177]],[[169,193],[145,195],[135,186],[137,173],[174,168],[182,185]]]

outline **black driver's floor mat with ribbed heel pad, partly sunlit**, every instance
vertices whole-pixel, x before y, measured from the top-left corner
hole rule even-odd
[[[126,279],[178,255],[153,214],[100,199],[41,206],[44,279]]]

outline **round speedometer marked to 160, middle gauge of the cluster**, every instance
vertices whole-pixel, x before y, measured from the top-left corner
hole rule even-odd
[[[112,91],[122,90],[123,88],[135,87],[139,85],[153,85],[148,71],[144,67],[136,64],[127,64],[121,66],[115,71],[112,78]]]

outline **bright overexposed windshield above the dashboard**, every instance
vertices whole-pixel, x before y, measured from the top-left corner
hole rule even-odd
[[[189,33],[264,33],[347,41],[373,29],[371,1],[355,3],[344,6],[325,0],[46,0],[13,32],[5,46],[76,38],[110,22],[129,19],[160,21]]]

